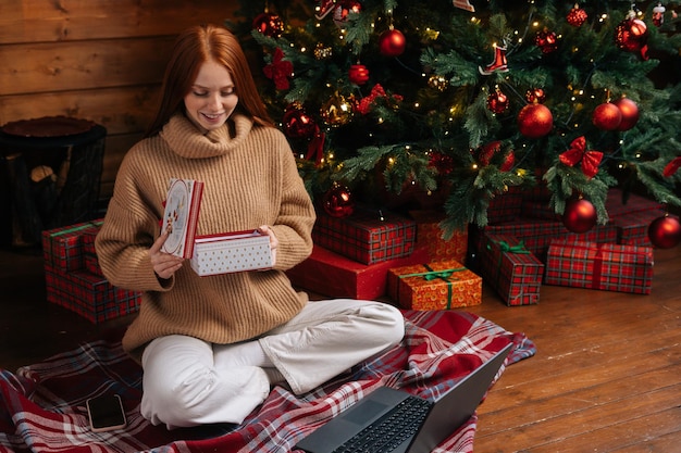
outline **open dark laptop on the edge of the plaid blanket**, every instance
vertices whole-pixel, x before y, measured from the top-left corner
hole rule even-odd
[[[474,414],[508,344],[437,401],[381,387],[302,439],[308,453],[430,453]]]

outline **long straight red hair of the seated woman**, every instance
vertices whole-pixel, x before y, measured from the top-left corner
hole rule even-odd
[[[215,61],[230,72],[239,102],[236,110],[261,126],[273,126],[253,81],[248,60],[236,36],[216,25],[198,25],[184,30],[175,41],[165,67],[161,102],[145,137],[158,134],[176,112],[184,112],[184,97],[189,93],[201,64]]]

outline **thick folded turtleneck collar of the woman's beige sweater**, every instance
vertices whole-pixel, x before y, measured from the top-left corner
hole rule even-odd
[[[249,117],[235,112],[222,127],[203,134],[184,114],[177,113],[159,135],[177,155],[185,159],[206,159],[226,154],[238,147],[252,126]]]

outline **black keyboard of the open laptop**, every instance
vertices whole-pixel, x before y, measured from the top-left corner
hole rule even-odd
[[[408,397],[333,453],[391,452],[419,430],[431,404],[428,400]]]

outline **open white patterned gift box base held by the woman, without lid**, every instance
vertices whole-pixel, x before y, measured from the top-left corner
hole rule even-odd
[[[191,268],[200,276],[272,267],[270,237],[258,231],[238,231],[194,239]]]

